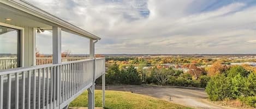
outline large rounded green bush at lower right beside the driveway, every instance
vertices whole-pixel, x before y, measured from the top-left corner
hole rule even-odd
[[[206,93],[213,101],[239,98],[256,107],[256,74],[241,66],[233,66],[227,73],[213,76],[206,86]]]

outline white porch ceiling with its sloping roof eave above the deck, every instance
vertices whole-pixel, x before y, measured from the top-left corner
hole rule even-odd
[[[100,40],[100,37],[34,7],[34,5],[25,1],[0,0],[0,10],[0,22],[3,23],[20,27],[40,27],[42,29],[52,29],[52,26],[56,26],[72,34],[93,40]],[[7,21],[5,18],[11,18],[11,21]]]

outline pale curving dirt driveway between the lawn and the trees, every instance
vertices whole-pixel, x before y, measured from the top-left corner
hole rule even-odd
[[[100,87],[98,87],[100,89]],[[150,86],[106,86],[106,90],[127,91],[174,102],[194,108],[222,109],[230,108],[212,104],[207,101],[207,94],[204,90],[183,89],[173,87],[150,87]],[[171,100],[170,100],[171,98]]]

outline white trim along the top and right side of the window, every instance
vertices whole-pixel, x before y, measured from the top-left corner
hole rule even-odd
[[[17,29],[17,67],[24,67],[24,33],[25,29],[22,27],[18,27],[16,25],[11,25],[7,23],[0,22],[0,26]],[[18,57],[19,56],[19,57]],[[18,60],[19,59],[19,60]],[[18,63],[19,62],[19,63]]]

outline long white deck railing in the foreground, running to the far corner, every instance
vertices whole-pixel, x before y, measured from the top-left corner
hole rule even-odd
[[[95,60],[96,79],[105,58]],[[0,108],[64,108],[93,83],[94,60],[0,71]]]

